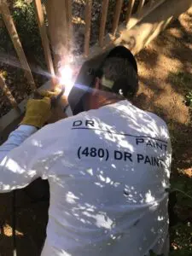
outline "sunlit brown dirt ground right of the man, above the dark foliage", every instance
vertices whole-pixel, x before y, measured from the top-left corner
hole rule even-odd
[[[192,164],[191,110],[183,103],[192,90],[191,32],[189,9],[137,55],[140,91],[136,104],[166,120],[172,136],[174,174]]]

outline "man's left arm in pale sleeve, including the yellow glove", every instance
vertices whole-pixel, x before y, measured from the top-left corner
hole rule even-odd
[[[0,146],[0,192],[23,188],[41,176],[32,166],[38,159],[40,149],[28,143],[26,138],[49,119],[50,108],[50,99],[47,97],[42,100],[29,100],[20,127]]]

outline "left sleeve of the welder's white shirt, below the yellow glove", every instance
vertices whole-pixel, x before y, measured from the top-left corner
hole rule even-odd
[[[30,160],[35,152],[20,147],[35,131],[37,129],[33,126],[20,125],[0,146],[0,192],[26,187],[39,177],[38,173],[30,168]]]

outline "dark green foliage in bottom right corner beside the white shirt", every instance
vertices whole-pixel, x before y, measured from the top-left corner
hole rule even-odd
[[[170,236],[172,251],[169,256],[191,256],[192,255],[192,186],[191,178],[178,170],[179,175],[172,179],[172,191],[176,191],[178,222],[172,226]]]

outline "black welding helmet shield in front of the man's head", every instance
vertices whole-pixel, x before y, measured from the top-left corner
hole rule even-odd
[[[103,64],[111,57],[127,59],[137,73],[137,61],[131,51],[124,46],[117,46],[105,54],[85,61],[68,96],[68,103],[74,115],[84,111],[84,96],[94,86],[96,77],[102,78]]]

